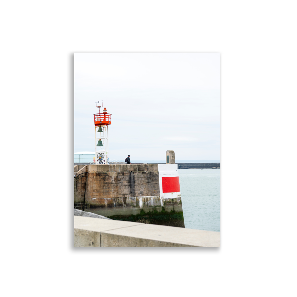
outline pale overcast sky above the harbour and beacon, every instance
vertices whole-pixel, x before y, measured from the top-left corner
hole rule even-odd
[[[95,151],[101,100],[110,159],[221,159],[220,53],[75,53],[74,152]]]

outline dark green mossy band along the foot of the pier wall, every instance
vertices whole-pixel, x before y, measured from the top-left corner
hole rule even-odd
[[[174,208],[170,212],[165,211],[164,207],[162,207],[162,211],[157,211],[157,209],[154,209],[153,211],[145,212],[142,209],[137,215],[116,215],[108,218],[118,221],[185,228],[184,213],[182,211],[176,212]]]

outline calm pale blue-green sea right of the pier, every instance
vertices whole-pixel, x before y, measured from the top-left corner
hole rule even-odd
[[[178,169],[185,227],[221,232],[221,169]]]

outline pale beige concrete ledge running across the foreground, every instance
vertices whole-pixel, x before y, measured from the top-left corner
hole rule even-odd
[[[75,216],[74,247],[221,247],[221,233]]]

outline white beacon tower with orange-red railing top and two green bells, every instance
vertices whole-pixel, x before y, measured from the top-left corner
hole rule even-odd
[[[99,113],[94,114],[96,165],[108,165],[108,126],[111,125],[111,114],[107,113],[106,108],[104,108],[103,113],[100,113],[100,108],[103,108],[103,101],[102,106],[97,106],[96,102],[96,107],[99,108]]]

